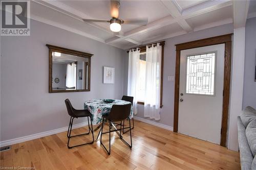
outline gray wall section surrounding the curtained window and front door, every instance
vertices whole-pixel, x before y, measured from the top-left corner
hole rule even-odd
[[[215,28],[210,28],[202,31],[188,33],[185,35],[165,39],[164,45],[164,65],[163,65],[163,108],[161,109],[161,119],[155,121],[154,119],[145,118],[143,113],[143,106],[139,105],[138,114],[136,116],[152,120],[154,122],[173,127],[174,119],[174,81],[167,81],[168,76],[175,76],[175,61],[176,50],[175,44],[194,41],[198,39],[214,37],[233,33],[232,24],[223,25]],[[124,94],[127,93],[127,72],[128,72],[128,54],[124,60]]]

